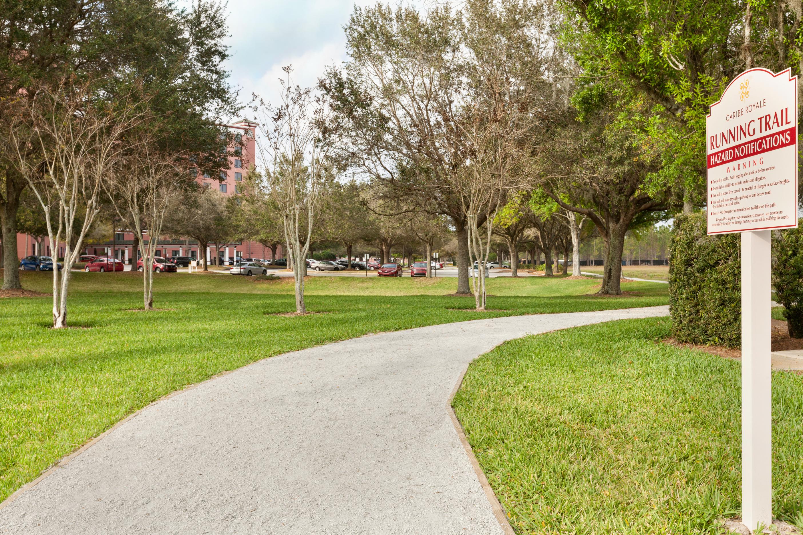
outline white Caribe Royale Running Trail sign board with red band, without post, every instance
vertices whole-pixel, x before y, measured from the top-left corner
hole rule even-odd
[[[797,76],[750,69],[707,117],[708,233],[797,226]]]

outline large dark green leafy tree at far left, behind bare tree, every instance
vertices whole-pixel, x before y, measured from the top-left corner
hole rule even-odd
[[[26,106],[36,87],[95,79],[105,81],[107,93],[124,95],[136,82],[145,99],[158,104],[163,118],[158,128],[172,134],[161,137],[165,144],[194,145],[202,164],[225,164],[217,124],[236,99],[222,67],[228,57],[222,6],[206,0],[190,10],[158,0],[31,0],[3,2],[0,13],[0,47],[6,51],[0,58],[4,265],[17,263],[16,213],[26,187],[14,165],[7,118]],[[34,149],[28,156],[41,158]],[[3,287],[20,287],[17,270],[4,270]]]

